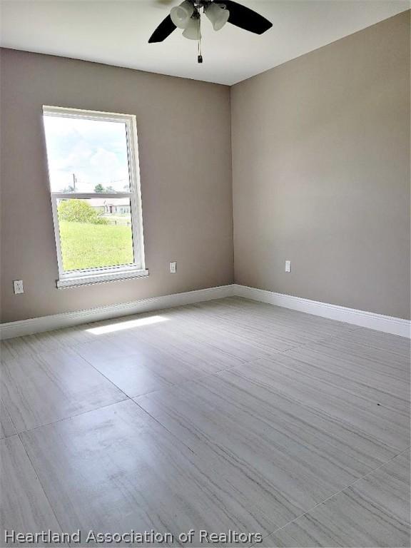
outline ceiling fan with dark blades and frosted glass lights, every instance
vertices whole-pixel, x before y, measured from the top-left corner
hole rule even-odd
[[[164,0],[163,4],[166,4]],[[253,9],[232,0],[184,0],[180,6],[171,9],[170,15],[161,21],[148,43],[162,42],[177,28],[183,29],[185,38],[198,40],[198,63],[202,63],[201,10],[210,20],[215,31],[222,29],[225,23],[239,26],[240,29],[255,34],[263,34],[273,26],[268,19]]]

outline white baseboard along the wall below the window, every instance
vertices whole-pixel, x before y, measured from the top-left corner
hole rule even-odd
[[[186,291],[186,293],[174,293],[173,295],[163,295],[162,297],[134,300],[121,305],[101,306],[88,310],[78,310],[77,312],[66,312],[43,316],[41,318],[31,318],[30,320],[2,323],[0,324],[0,340],[21,337],[22,335],[32,335],[33,333],[42,333],[54,329],[69,328],[73,325],[81,325],[82,323],[98,322],[110,318],[150,312],[151,310],[161,310],[161,308],[173,308],[175,306],[201,303],[204,300],[221,299],[232,295],[233,285],[221,285],[217,288],[199,289],[196,291]]]

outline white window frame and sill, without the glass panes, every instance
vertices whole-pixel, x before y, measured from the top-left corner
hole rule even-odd
[[[126,278],[140,278],[148,276],[144,258],[143,214],[141,208],[140,170],[138,164],[138,141],[136,116],[133,114],[118,114],[111,112],[86,111],[78,108],[60,106],[43,106],[43,116],[59,116],[64,118],[81,118],[83,120],[116,121],[126,124],[126,143],[128,153],[128,173],[130,178],[129,192],[116,193],[59,193],[51,190],[49,172],[49,189],[51,194],[51,208],[53,211],[54,236],[56,241],[57,264],[59,266],[59,280],[57,288],[68,288],[76,285],[124,280]],[[81,270],[65,271],[61,254],[59,216],[57,201],[59,198],[129,198],[131,203],[131,229],[133,236],[134,262],[131,265],[118,265],[99,268],[84,268]]]

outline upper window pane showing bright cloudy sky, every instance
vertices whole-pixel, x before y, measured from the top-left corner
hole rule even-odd
[[[51,192],[129,192],[126,123],[44,115]]]

